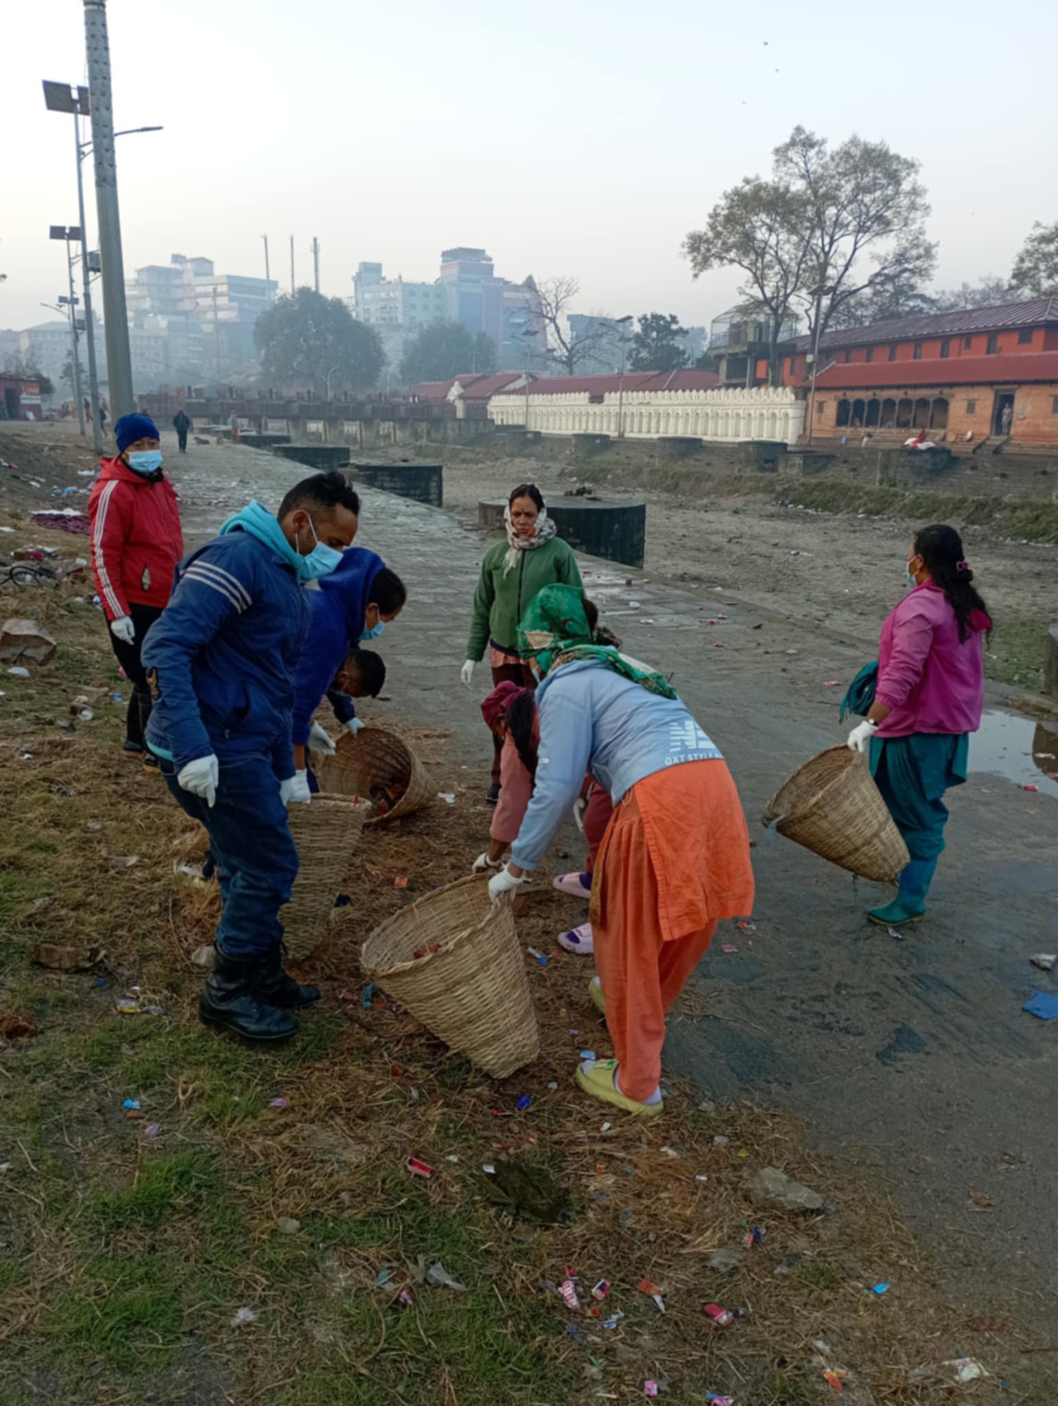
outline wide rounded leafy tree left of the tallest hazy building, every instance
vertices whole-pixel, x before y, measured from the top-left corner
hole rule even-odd
[[[340,298],[312,288],[281,295],[260,315],[253,337],[264,380],[302,385],[318,395],[327,385],[332,392],[367,391],[385,361],[375,329],[357,322]]]

